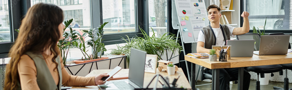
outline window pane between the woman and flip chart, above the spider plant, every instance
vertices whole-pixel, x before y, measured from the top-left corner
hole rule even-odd
[[[104,34],[135,31],[134,0],[102,0]]]

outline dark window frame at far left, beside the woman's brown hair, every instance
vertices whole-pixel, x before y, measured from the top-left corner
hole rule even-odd
[[[8,0],[8,10],[9,10],[9,21],[10,21],[10,35],[11,42],[0,43],[0,58],[8,57],[9,50],[14,44],[15,39],[18,36],[18,33],[14,29],[20,27],[21,17],[24,16],[27,12],[27,9],[30,7],[30,0]],[[22,9],[20,9],[22,8]]]

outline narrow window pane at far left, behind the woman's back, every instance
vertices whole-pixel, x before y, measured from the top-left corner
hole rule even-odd
[[[10,18],[8,11],[8,0],[0,1],[0,43],[11,42]]]

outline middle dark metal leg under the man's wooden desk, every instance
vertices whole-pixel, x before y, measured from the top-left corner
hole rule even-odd
[[[212,70],[212,90],[219,90],[219,69]]]

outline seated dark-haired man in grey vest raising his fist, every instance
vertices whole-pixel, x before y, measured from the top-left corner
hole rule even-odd
[[[210,25],[202,28],[199,32],[199,37],[197,41],[197,53],[209,53],[213,45],[226,45],[226,40],[230,40],[230,36],[241,35],[248,33],[249,22],[248,22],[248,12],[242,12],[241,17],[243,17],[243,26],[240,28],[235,28],[232,26],[221,25],[220,17],[221,9],[217,5],[210,5],[207,8],[208,19]],[[207,69],[207,68],[204,68]],[[212,73],[211,69],[207,70],[205,73]],[[220,69],[219,74],[220,90],[229,90],[229,80],[230,76],[238,77],[238,68],[225,68]],[[244,81],[243,89],[248,90],[251,75],[244,70]]]

